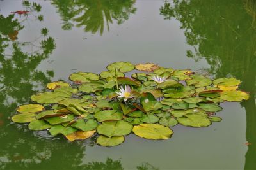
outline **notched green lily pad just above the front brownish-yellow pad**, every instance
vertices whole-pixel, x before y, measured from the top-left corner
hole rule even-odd
[[[90,119],[87,122],[85,122],[83,119],[77,120],[75,123],[71,124],[72,127],[75,127],[76,129],[80,129],[81,131],[92,131],[93,129],[96,129],[98,126],[97,121]]]

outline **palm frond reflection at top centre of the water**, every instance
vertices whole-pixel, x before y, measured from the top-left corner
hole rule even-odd
[[[98,31],[102,34],[105,25],[109,30],[113,20],[117,24],[128,20],[129,15],[136,11],[134,3],[134,0],[52,0],[63,20],[63,29],[71,29],[75,22],[77,27],[84,27],[84,31],[93,34]]]

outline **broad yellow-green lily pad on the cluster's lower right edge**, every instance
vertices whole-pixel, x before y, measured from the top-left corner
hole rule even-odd
[[[177,121],[179,124],[189,127],[207,127],[211,125],[211,121],[207,117],[195,113],[188,113],[184,117],[178,117]]]

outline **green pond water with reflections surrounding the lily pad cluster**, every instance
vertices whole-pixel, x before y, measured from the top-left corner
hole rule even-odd
[[[256,169],[255,1],[29,2],[0,1],[0,169]],[[11,123],[48,82],[116,61],[234,76],[250,99],[221,104],[210,127],[177,125],[164,141],[131,134],[112,148]]]

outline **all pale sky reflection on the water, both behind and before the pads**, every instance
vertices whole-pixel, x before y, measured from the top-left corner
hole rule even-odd
[[[54,69],[55,80],[67,80],[73,69],[99,73],[108,63],[119,60],[154,62],[175,69],[209,67],[205,60],[195,62],[186,57],[186,50],[193,49],[186,45],[180,23],[175,19],[163,20],[159,15],[163,1],[137,1],[135,15],[122,25],[110,24],[109,31],[105,30],[102,36],[76,27],[64,31],[56,8],[49,1],[38,2],[42,5],[44,22],[24,22],[26,28],[19,32],[19,39],[29,41],[40,34],[42,27],[49,29],[49,34],[56,39],[56,50],[39,69]],[[22,10],[22,6],[20,1],[1,1],[0,9],[0,13],[8,15],[10,11]],[[246,152],[242,144],[246,141],[244,113],[238,103],[227,103],[219,114],[223,121],[211,127],[177,126],[173,128],[172,139],[166,141],[148,141],[131,135],[125,143],[113,148],[88,146],[82,159],[84,163],[104,162],[106,157],[121,159],[124,169],[134,168],[141,162],[160,169],[195,168],[198,164],[205,169],[242,169]]]

